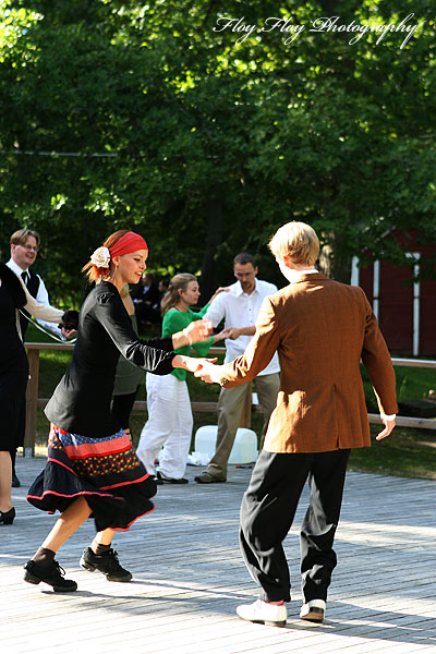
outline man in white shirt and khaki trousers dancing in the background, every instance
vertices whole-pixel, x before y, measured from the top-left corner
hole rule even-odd
[[[229,292],[220,293],[215,298],[204,316],[206,320],[213,323],[214,327],[217,327],[223,319],[225,328],[232,328],[230,338],[226,340],[226,363],[244,353],[256,331],[255,323],[264,298],[277,291],[274,283],[256,278],[257,266],[251,254],[241,253],[234,257],[233,272],[238,281],[229,287]],[[265,417],[261,447],[269,416],[277,402],[279,371],[279,360],[276,353],[270,363],[255,378],[257,397]],[[251,382],[235,388],[221,389],[218,401],[218,434],[215,455],[207,470],[195,477],[198,484],[227,481],[227,462],[240,425],[247,385],[251,387]]]

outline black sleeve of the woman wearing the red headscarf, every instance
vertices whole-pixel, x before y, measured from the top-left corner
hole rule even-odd
[[[175,352],[172,350],[172,339],[140,339],[121,298],[113,294],[100,295],[95,306],[95,316],[128,361],[155,375],[173,372],[172,360]]]

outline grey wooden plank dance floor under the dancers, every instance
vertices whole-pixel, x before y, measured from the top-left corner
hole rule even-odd
[[[131,583],[82,570],[94,535],[88,521],[59,561],[78,583],[72,594],[22,581],[23,564],[55,521],[25,501],[44,465],[19,459],[17,517],[0,525],[1,654],[402,654],[436,652],[436,482],[349,473],[324,625],[299,619],[299,525],[286,548],[294,583],[286,628],[240,620],[256,586],[238,546],[238,517],[250,470],[227,484],[160,486],[156,511],[116,536]],[[191,482],[203,469],[189,467]]]

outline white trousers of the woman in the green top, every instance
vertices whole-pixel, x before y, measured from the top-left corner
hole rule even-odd
[[[174,375],[147,373],[146,387],[148,420],[136,453],[149,474],[156,474],[158,458],[157,470],[165,476],[181,479],[186,469],[193,427],[186,382]]]

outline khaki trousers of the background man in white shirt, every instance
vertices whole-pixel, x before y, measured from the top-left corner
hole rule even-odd
[[[261,448],[268,427],[269,416],[277,404],[277,393],[280,386],[280,374],[261,375],[255,378],[256,392],[264,412]],[[210,459],[206,472],[218,480],[227,479],[227,462],[233,447],[237,429],[241,422],[245,393],[251,382],[234,388],[221,388],[218,400],[218,434],[215,455]]]

